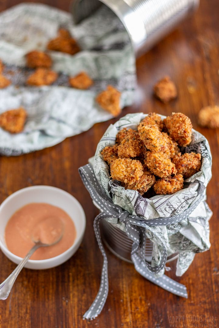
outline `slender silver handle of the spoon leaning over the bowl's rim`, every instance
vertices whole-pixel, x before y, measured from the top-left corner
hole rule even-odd
[[[27,253],[27,255],[22,259],[22,261],[18,264],[18,266],[14,269],[11,275],[0,284],[0,299],[6,299],[9,296],[11,288],[20,271],[23,269],[24,265],[29,260],[31,255],[37,250],[37,248],[41,246],[44,246],[44,244],[42,244],[41,242],[37,242]]]

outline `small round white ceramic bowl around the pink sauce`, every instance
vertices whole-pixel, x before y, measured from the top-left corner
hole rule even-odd
[[[6,198],[0,205],[0,248],[14,263],[18,264],[21,257],[11,253],[5,243],[5,227],[11,215],[29,203],[48,203],[64,210],[72,219],[76,228],[74,244],[64,253],[45,260],[28,260],[25,268],[49,269],[67,261],[78,249],[82,241],[86,219],[83,208],[75,197],[66,191],[51,186],[33,186],[18,190]]]

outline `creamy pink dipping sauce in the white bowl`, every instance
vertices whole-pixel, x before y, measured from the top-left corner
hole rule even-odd
[[[42,229],[41,235],[45,237],[44,226],[41,222],[48,218],[49,220],[52,218],[54,233],[58,233],[58,229],[60,230],[61,219],[62,229],[64,229],[63,236],[55,245],[37,249],[30,259],[44,260],[69,249],[76,238],[76,229],[71,217],[59,207],[47,203],[30,203],[17,210],[7,223],[5,242],[9,251],[17,256],[24,257],[34,245],[31,237],[34,235],[36,228],[39,230],[40,227]],[[45,242],[46,240],[42,241]]]

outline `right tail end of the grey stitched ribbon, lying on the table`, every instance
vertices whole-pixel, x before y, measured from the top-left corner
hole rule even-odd
[[[144,278],[148,279],[155,285],[162,287],[163,289],[167,290],[172,294],[188,298],[186,286],[165,275],[159,278],[154,277],[154,275],[151,274],[145,267],[141,257],[138,256],[136,253],[132,254],[131,258],[132,262],[134,263],[135,270],[140,273],[140,275],[142,275]]]

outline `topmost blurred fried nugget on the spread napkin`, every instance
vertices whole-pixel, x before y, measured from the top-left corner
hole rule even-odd
[[[70,33],[65,29],[60,29],[58,31],[58,36],[48,42],[47,49],[66,52],[71,55],[80,51],[76,40],[72,38]]]

